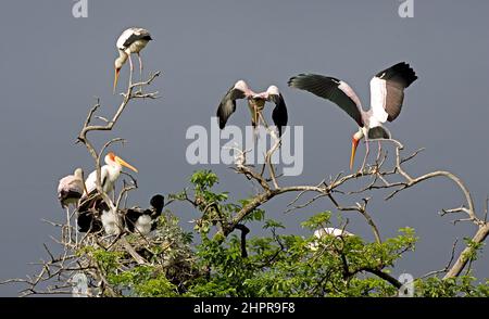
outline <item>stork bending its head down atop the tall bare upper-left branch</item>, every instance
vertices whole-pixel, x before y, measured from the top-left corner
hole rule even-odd
[[[151,41],[151,35],[147,29],[143,28],[128,28],[122,33],[118,37],[116,47],[118,50],[118,58],[115,59],[115,77],[114,77],[114,93],[115,88],[117,87],[118,74],[121,73],[121,68],[126,63],[127,59],[129,60],[130,69],[133,71],[133,61],[130,60],[130,54],[136,53],[139,59],[139,74],[142,77],[142,61],[140,52]]]

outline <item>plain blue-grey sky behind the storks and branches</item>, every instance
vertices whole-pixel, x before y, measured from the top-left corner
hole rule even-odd
[[[414,17],[403,20],[396,0],[88,0],[86,18],[73,17],[73,1],[2,1],[0,280],[37,271],[27,263],[45,258],[42,243],[51,244],[49,237],[58,234],[41,219],[64,218],[55,195],[59,178],[77,166],[93,169],[86,149],[74,140],[95,95],[101,98],[102,115],[110,116],[118,105],[111,91],[115,41],[134,25],[148,28],[154,38],[143,51],[145,66],[163,72],[153,86],[163,98],[133,103],[113,132],[92,135],[99,143],[115,136],[128,140],[115,151],[140,169],[131,204],[147,206],[153,193],[181,190],[201,168],[214,169],[218,189],[234,199],[253,194],[251,184],[225,165],[192,166],[185,158],[187,128],[210,127],[220,99],[239,78],[255,90],[276,84],[288,105],[289,125],[304,126],[303,174],[283,183],[315,184],[347,170],[354,122],[334,104],[289,89],[288,78],[302,72],[339,77],[368,106],[371,77],[406,61],[419,79],[408,89],[403,112],[389,128],[408,151],[426,148],[410,171],[457,174],[481,213],[489,193],[489,2],[414,2]],[[121,86],[126,78],[127,67]],[[241,127],[249,123],[242,106],[230,118]],[[362,145],[358,158],[363,151]],[[389,202],[383,195],[374,195],[371,205],[383,238],[405,226],[421,238],[394,276],[443,268],[453,241],[475,233],[473,225],[453,226],[452,217],[437,215],[464,203],[451,181],[428,181]],[[264,207],[268,218],[288,226],[284,233],[309,235],[300,221],[333,209],[323,201],[285,215],[291,199],[278,197]],[[188,220],[197,212],[173,208],[190,229]],[[346,216],[351,232],[373,240],[363,219]],[[479,278],[489,278],[488,255],[486,251],[475,264]],[[14,296],[18,289],[0,285],[0,295]]]

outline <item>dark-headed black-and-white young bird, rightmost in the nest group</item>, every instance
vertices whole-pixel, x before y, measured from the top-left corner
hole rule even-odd
[[[126,210],[125,219],[128,231],[147,235],[156,228],[156,224],[153,221],[160,217],[163,210],[163,195],[158,194],[152,196],[150,205],[151,208],[148,209],[134,207]]]

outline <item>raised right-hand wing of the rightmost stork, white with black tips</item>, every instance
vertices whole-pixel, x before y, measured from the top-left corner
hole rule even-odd
[[[401,113],[404,89],[417,79],[405,62],[379,72],[371,80],[371,106],[380,123],[394,120]]]

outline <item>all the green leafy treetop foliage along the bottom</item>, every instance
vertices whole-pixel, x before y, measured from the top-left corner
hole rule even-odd
[[[249,203],[228,203],[226,192],[216,192],[215,174],[197,171],[190,178],[193,204],[202,214],[192,239],[168,214],[161,217],[155,241],[147,247],[154,266],[121,267],[120,252],[89,252],[99,263],[111,285],[131,296],[396,296],[398,289],[378,275],[389,276],[406,252],[414,251],[417,238],[412,228],[383,243],[366,242],[358,235],[321,239],[312,235],[329,227],[331,214],[318,213],[302,222],[308,238],[287,234],[276,220],[265,220],[265,212],[255,209],[244,222],[260,220],[265,235],[249,237],[242,254],[239,232],[227,238],[210,237],[218,221],[228,220]],[[189,200],[187,193],[174,199]],[[129,239],[130,240],[130,239]],[[170,243],[170,245],[167,245]],[[480,247],[474,246],[471,260]],[[183,275],[185,273],[185,276]],[[489,282],[476,283],[471,276],[442,280],[415,281],[415,296],[488,296]]]

